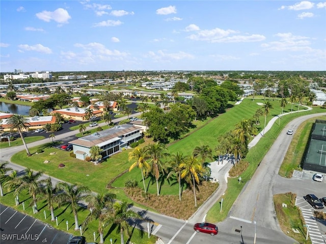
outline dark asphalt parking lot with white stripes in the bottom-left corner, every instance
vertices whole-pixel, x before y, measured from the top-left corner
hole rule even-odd
[[[53,223],[54,225],[56,223]],[[0,204],[2,244],[68,243],[71,234]]]

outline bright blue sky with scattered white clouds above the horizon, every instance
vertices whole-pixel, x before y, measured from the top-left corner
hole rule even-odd
[[[1,72],[326,70],[322,1],[0,1]]]

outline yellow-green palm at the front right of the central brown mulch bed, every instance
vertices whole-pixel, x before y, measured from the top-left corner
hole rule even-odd
[[[197,207],[197,198],[196,198],[196,183],[199,184],[199,176],[203,172],[203,167],[201,162],[197,157],[191,156],[188,157],[185,162],[180,164],[180,168],[182,169],[181,178],[192,179],[193,182],[193,190],[194,190],[194,198],[195,198],[195,207]],[[190,182],[189,182],[190,183]]]

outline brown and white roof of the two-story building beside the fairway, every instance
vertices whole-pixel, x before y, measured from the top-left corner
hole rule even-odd
[[[85,137],[78,138],[77,140],[69,142],[73,145],[79,145],[83,147],[91,148],[96,145],[103,146],[110,143],[108,141],[114,142],[121,140],[121,137],[124,134],[128,134],[132,131],[141,130],[141,127],[130,125],[130,124],[124,124],[124,125],[118,125],[110,129],[97,131],[93,134],[86,135]]]

